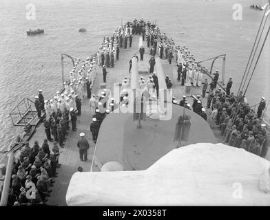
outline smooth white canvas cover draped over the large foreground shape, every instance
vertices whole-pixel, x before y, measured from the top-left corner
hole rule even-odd
[[[270,194],[260,190],[269,188],[269,163],[241,148],[191,144],[147,170],[74,173],[66,201],[68,206],[269,206]]]

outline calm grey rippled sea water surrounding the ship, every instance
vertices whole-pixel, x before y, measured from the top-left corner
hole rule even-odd
[[[45,99],[61,88],[61,53],[85,58],[96,52],[103,36],[134,18],[159,25],[176,44],[190,48],[198,61],[227,54],[225,80],[233,76],[236,91],[247,65],[262,12],[250,10],[249,0],[2,0],[0,7],[0,151],[8,148],[17,129],[9,112],[23,98],[34,99],[43,89]],[[28,3],[36,19],[26,19]],[[242,4],[242,21],[232,19],[233,4]],[[269,22],[267,23],[269,27]],[[27,36],[29,28],[45,34]],[[79,33],[85,28],[86,33]],[[250,104],[270,98],[269,39],[247,92]],[[221,65],[221,61],[220,65]],[[65,61],[65,73],[72,66]]]

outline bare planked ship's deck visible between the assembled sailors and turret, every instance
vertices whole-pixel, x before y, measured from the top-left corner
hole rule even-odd
[[[140,36],[134,36],[132,41],[132,47],[127,47],[124,49],[123,47],[120,49],[119,60],[116,61],[114,68],[107,68],[107,89],[111,89],[113,91],[114,83],[121,83],[125,76],[129,77],[129,60],[134,55],[138,53],[138,43]],[[129,45],[129,43],[128,43]],[[144,61],[139,61],[139,65],[143,65],[144,69],[147,67],[149,69],[148,61],[149,61],[149,50],[147,48],[147,41],[143,41],[143,46],[145,47]],[[173,83],[173,94],[176,96],[176,99],[181,99],[182,95],[185,93],[185,87],[181,86],[177,79],[177,67],[175,58],[172,61],[172,64],[169,65],[167,60],[161,61],[163,65],[163,71],[165,75],[169,75],[172,79]],[[140,69],[140,68],[138,68]],[[140,70],[139,75],[140,75]],[[141,72],[145,77],[148,77],[148,73]],[[205,77],[205,76],[204,76]],[[96,94],[99,89],[99,84],[103,83],[102,76],[102,68],[101,66],[97,67],[97,76],[94,83],[94,87],[92,88],[92,94]],[[201,94],[201,88],[192,88],[191,94]],[[187,98],[189,103],[192,103],[192,98]],[[205,106],[206,98],[203,99],[203,106]],[[60,168],[57,169],[58,177],[55,178],[54,186],[51,188],[52,192],[50,193],[50,197],[48,197],[48,205],[52,206],[66,206],[65,203],[65,195],[67,192],[67,187],[70,182],[70,178],[77,171],[77,168],[81,166],[83,171],[90,171],[92,164],[92,157],[94,153],[94,142],[92,141],[92,134],[90,133],[90,123],[92,122],[92,113],[90,112],[90,104],[89,99],[83,98],[81,115],[77,117],[77,131],[69,131],[66,136],[66,140],[64,142],[64,148],[60,148],[61,155],[59,157],[59,163],[62,164]],[[71,125],[71,124],[70,124]],[[79,159],[79,149],[76,146],[76,143],[79,140],[79,133],[84,132],[85,137],[90,142],[90,150],[88,151],[88,159],[86,162],[81,162]],[[34,141],[37,140],[41,145],[43,143],[43,139],[45,138],[45,132],[43,124],[40,124],[34,135],[30,140],[30,146],[34,144]],[[218,138],[217,138],[218,142]],[[50,148],[52,148],[52,143],[50,144]],[[106,153],[110,155],[110,152]],[[160,155],[161,157],[162,155]],[[98,166],[94,166],[93,170],[98,171]]]

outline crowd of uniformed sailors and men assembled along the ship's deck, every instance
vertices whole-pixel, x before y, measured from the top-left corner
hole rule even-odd
[[[261,123],[260,117],[265,109],[265,99],[262,97],[257,113],[249,107],[245,102],[245,96],[240,94],[234,96],[231,92],[232,78],[229,78],[226,92],[222,89],[216,89],[218,83],[218,71],[214,74],[214,79],[210,84],[208,80],[203,80],[203,72],[196,63],[194,56],[187,47],[176,46],[174,40],[169,39],[165,33],[160,34],[158,26],[154,23],[143,21],[127,22],[125,25],[116,28],[110,37],[104,37],[96,56],[88,57],[85,61],[77,59],[72,72],[70,72],[69,80],[64,82],[64,91],[56,92],[55,96],[50,100],[44,100],[42,91],[35,96],[34,105],[38,112],[46,115],[44,121],[44,129],[46,139],[42,146],[34,142],[32,148],[28,142],[21,150],[21,154],[12,171],[12,184],[10,187],[10,195],[8,198],[9,206],[26,205],[29,203],[45,203],[45,197],[50,196],[50,187],[53,186],[53,177],[56,177],[56,167],[59,164],[59,146],[64,147],[65,135],[70,130],[70,122],[72,131],[76,131],[77,116],[81,115],[81,105],[84,97],[89,98],[90,110],[92,113],[92,122],[89,130],[92,133],[92,140],[96,143],[101,123],[105,117],[118,107],[118,103],[114,102],[112,94],[107,89],[101,89],[100,94],[92,94],[92,87],[96,78],[96,65],[103,68],[103,83],[107,82],[107,69],[114,67],[119,58],[120,48],[127,49],[127,41],[129,47],[132,47],[132,35],[143,35],[143,41],[147,41],[147,47],[151,47],[149,60],[149,76],[138,79],[138,85],[141,91],[148,91],[150,100],[158,98],[158,77],[154,72],[156,64],[155,56],[161,59],[167,59],[169,65],[172,64],[172,58],[176,58],[177,63],[177,80],[181,85],[192,85],[200,87],[203,84],[203,96],[193,96],[194,101],[191,104],[187,102],[187,96],[183,96],[183,100],[176,101],[173,96],[172,102],[179,104],[187,109],[192,109],[202,118],[207,120],[212,127],[218,126],[220,132],[224,135],[227,144],[238,148],[244,148],[246,151],[260,155],[261,146],[266,137],[265,124]],[[143,61],[145,48],[139,49],[141,55],[140,60]],[[134,54],[133,57],[138,56]],[[80,67],[79,67],[80,66]],[[129,61],[129,73],[132,68],[132,60]],[[172,80],[169,75],[166,76],[165,82],[167,89],[172,89]],[[207,94],[209,85],[209,94],[207,96],[207,106],[203,107],[203,100]],[[121,84],[120,102],[122,107],[129,104],[129,78],[125,76]],[[141,94],[144,96],[143,92]],[[209,118],[207,118],[206,109],[211,109]],[[90,148],[89,142],[85,138],[85,133],[80,133],[80,140],[77,142],[79,148],[79,158],[81,161],[87,161],[87,150]],[[50,150],[49,142],[53,142],[52,150]],[[30,188],[28,183],[33,183],[36,190],[32,193],[31,199],[26,197],[26,191]],[[35,195],[35,197],[34,197]]]

